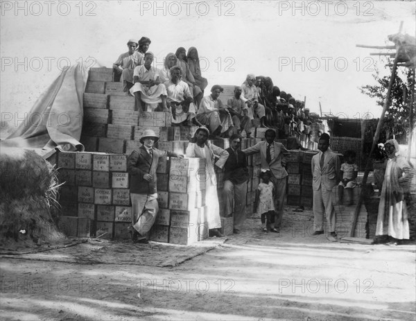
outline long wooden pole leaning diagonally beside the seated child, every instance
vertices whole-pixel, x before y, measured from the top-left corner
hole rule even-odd
[[[374,148],[377,144],[377,141],[379,141],[381,126],[383,125],[383,120],[384,120],[384,114],[388,110],[388,107],[390,106],[390,99],[391,99],[390,96],[392,92],[393,83],[395,83],[398,57],[399,57],[399,50],[396,51],[395,61],[393,62],[393,67],[392,67],[392,75],[390,76],[390,83],[388,84],[387,96],[385,97],[385,101],[383,104],[383,111],[381,112],[379,123],[377,123],[377,128],[376,128],[376,132],[374,133],[374,139],[373,139],[373,143],[371,146],[370,155],[368,156],[367,165],[365,166],[363,182],[361,182],[361,186],[362,186],[361,193],[360,193],[360,197],[358,198],[357,207],[354,211],[354,216],[352,219],[352,226],[351,226],[351,230],[349,231],[349,236],[354,236],[358,214],[360,214],[361,205],[363,205],[363,198],[365,197],[365,185],[367,184],[367,177],[368,177],[368,174],[370,173],[370,164],[372,162],[371,155],[374,152]]]

